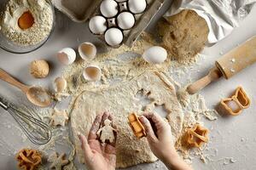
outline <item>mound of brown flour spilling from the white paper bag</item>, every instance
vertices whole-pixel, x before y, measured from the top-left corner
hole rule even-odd
[[[183,64],[195,62],[195,55],[204,48],[209,29],[206,20],[193,10],[184,9],[159,23],[161,46],[173,59]]]

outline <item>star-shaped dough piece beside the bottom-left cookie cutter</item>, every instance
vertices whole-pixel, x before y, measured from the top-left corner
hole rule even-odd
[[[65,154],[64,153],[62,153],[60,156],[58,156],[57,152],[52,153],[49,156],[48,161],[52,162],[49,167],[51,169],[55,169],[55,170],[61,170],[62,167],[67,165],[68,162],[69,162],[67,159],[65,159]]]

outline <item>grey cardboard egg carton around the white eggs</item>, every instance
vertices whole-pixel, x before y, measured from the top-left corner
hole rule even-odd
[[[94,33],[90,27],[90,31],[93,34],[95,34],[96,37],[99,37],[104,42],[106,42],[108,46],[111,46],[112,48],[119,48],[119,46],[122,45],[123,43],[125,43],[125,45],[129,47],[132,46],[133,42],[137,40],[137,37],[139,37],[139,35],[143,32],[143,30],[148,26],[148,24],[150,23],[154,15],[157,14],[157,12],[160,10],[160,7],[162,6],[165,0],[145,0],[146,8],[143,10],[143,12],[140,12],[138,14],[136,14],[135,12],[132,12],[131,8],[129,7],[129,4],[131,3],[129,1],[132,1],[132,0],[103,0],[102,2],[104,1],[114,1],[115,3],[117,3],[118,13],[115,14],[114,16],[108,17],[106,16],[106,14],[105,15],[102,14],[102,12],[104,13],[104,10],[102,10],[102,7],[101,7],[102,3],[99,4],[98,8],[96,8],[96,12],[93,14],[92,17],[90,17],[90,20],[93,19],[95,16],[103,17],[106,20],[105,21],[106,23],[104,23],[104,25],[107,26],[107,29],[106,31],[102,31],[101,33]],[[133,0],[133,2],[135,3],[140,1],[143,1],[143,0],[135,0],[135,1]],[[105,6],[107,6],[107,8],[109,7],[108,4]],[[119,14],[123,12],[131,13],[135,19],[135,23],[130,29],[122,29],[117,23]],[[109,44],[107,42],[108,40],[106,41],[106,32],[111,28],[119,29],[119,31],[122,32],[122,35],[123,35],[122,41],[119,42],[118,44]],[[111,36],[112,37],[110,37],[110,39],[112,39],[113,41],[115,41],[115,39],[119,39],[118,34],[113,33]]]

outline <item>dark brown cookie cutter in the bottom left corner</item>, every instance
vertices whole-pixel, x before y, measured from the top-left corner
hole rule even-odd
[[[18,161],[19,169],[35,170],[42,162],[42,155],[38,150],[23,149],[17,153],[16,159]]]

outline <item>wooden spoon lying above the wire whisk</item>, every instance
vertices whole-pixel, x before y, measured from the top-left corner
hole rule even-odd
[[[51,99],[49,94],[44,88],[39,87],[28,87],[25,84],[15,80],[14,77],[11,77],[6,71],[0,68],[0,79],[4,82],[9,82],[16,88],[20,88],[20,90],[26,94],[26,98],[33,104],[38,105],[40,107],[47,107],[51,104]]]

